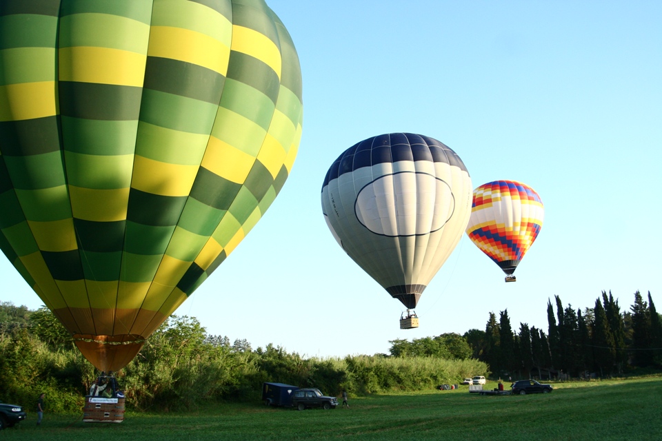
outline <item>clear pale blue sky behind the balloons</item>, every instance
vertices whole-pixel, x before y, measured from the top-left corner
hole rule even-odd
[[[662,2],[268,0],[297,46],[304,121],[288,182],[176,314],[210,334],[303,356],[387,352],[389,340],[484,329],[508,309],[547,331],[548,299],[612,291],[662,306]],[[423,294],[421,327],[342,251],[320,190],[370,136],[432,136],[474,187],[521,181],[545,205],[516,283],[463,236]],[[42,303],[6,259],[0,300]]]

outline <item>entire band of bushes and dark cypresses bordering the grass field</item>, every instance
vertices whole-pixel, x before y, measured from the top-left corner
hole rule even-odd
[[[556,311],[554,311],[556,307]],[[431,389],[465,377],[587,378],[662,368],[662,320],[650,293],[621,311],[611,292],[594,307],[548,300],[548,329],[508,309],[490,313],[485,331],[390,341],[389,353],[305,358],[283,347],[209,335],[195,318],[171,316],[117,373],[132,409],[194,409],[209,401],[259,400],[265,381],[319,387],[338,396]],[[0,401],[32,405],[41,392],[52,411],[80,410],[99,375],[46,308],[0,302]]]

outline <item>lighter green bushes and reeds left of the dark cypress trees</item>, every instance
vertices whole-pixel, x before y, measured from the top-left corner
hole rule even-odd
[[[444,339],[448,348],[441,344]],[[319,387],[335,396],[346,389],[351,396],[431,389],[487,373],[488,366],[470,357],[466,343],[463,354],[458,352],[453,341],[463,341],[461,336],[441,340],[437,354],[444,358],[411,353],[405,358],[304,358],[271,344],[253,349],[246,340],[230,342],[209,335],[196,318],[171,316],[116,376],[128,407],[163,411],[195,409],[210,401],[256,401],[263,382]],[[0,401],[32,409],[45,392],[51,411],[79,411],[98,375],[46,307],[30,311],[0,302]]]

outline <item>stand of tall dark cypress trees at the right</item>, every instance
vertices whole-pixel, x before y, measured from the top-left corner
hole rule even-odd
[[[502,378],[588,378],[662,368],[662,317],[650,292],[646,301],[636,291],[625,311],[611,291],[602,291],[594,306],[583,311],[563,307],[554,296],[554,305],[548,300],[547,319],[546,333],[523,322],[514,331],[505,309],[498,321],[490,313],[485,331],[470,329],[463,336],[472,356]]]

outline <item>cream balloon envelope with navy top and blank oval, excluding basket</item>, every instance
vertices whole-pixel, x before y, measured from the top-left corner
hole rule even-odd
[[[322,185],[322,211],[354,262],[413,308],[463,234],[471,188],[464,163],[443,143],[384,134],[334,161]]]

